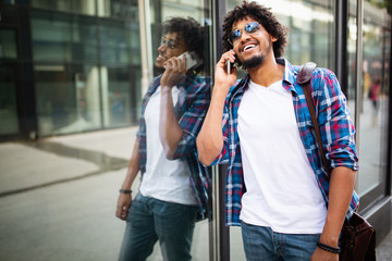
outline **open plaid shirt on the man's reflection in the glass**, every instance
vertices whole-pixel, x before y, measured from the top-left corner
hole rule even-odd
[[[160,78],[161,75],[152,79],[152,83],[148,86],[147,92],[142,101],[139,128],[136,134],[139,142],[139,169],[142,179],[146,172],[146,162],[148,160],[147,129],[144,114],[150,97],[160,86]],[[173,160],[181,159],[187,162],[186,165],[188,167],[191,183],[199,206],[198,219],[205,219],[210,189],[210,175],[208,170],[198,161],[196,137],[201,128],[211,99],[210,83],[208,77],[192,75],[183,83],[179,84],[177,88],[180,89],[180,94],[177,102],[174,105],[174,113],[184,134],[174,151]]]

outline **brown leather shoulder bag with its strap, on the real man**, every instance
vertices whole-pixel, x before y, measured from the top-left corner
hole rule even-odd
[[[309,89],[309,83],[315,67],[316,63],[314,62],[302,65],[298,71],[297,83],[304,87],[306,103],[315,127],[322,164],[326,167],[328,175],[330,175],[321,142],[320,127],[316,116],[315,104]],[[376,260],[376,229],[363,216],[354,213],[350,221],[347,219],[344,221],[339,246],[341,248],[339,260],[341,261],[373,261]]]

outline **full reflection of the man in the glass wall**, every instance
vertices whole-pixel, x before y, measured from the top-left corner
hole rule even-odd
[[[144,97],[118,200],[115,214],[126,220],[120,260],[146,260],[157,240],[164,260],[191,260],[197,212],[205,214],[207,176],[199,175],[204,169],[195,141],[209,104],[209,86],[196,73],[200,64],[186,70],[192,58],[179,58],[186,51],[203,58],[201,28],[193,18],[173,17],[163,24],[163,35],[156,66],[164,73]],[[139,170],[139,192],[132,199],[130,189]]]

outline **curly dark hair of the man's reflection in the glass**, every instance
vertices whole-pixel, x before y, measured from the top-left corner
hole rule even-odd
[[[204,60],[204,29],[192,17],[170,17],[163,22],[163,35],[176,33],[184,40],[187,51],[195,51],[199,59]]]

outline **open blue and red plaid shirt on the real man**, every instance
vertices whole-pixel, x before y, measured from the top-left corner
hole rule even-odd
[[[286,60],[277,59],[284,65],[283,88],[293,96],[295,117],[307,158],[315,172],[317,183],[328,206],[329,178],[322,166],[310,113],[308,111],[303,86],[296,83],[298,66],[291,65]],[[226,174],[226,225],[240,225],[241,198],[246,191],[241,160],[241,147],[237,133],[237,117],[241,99],[248,86],[249,76],[231,87],[225,100],[222,119],[224,146],[213,161],[229,163]],[[329,70],[315,69],[310,82],[316,114],[320,125],[322,145],[330,170],[346,166],[358,170],[358,158],[354,141],[354,125],[350,119],[346,99],[340,88],[336,76]],[[357,209],[359,198],[354,191],[346,216],[350,219]]]

